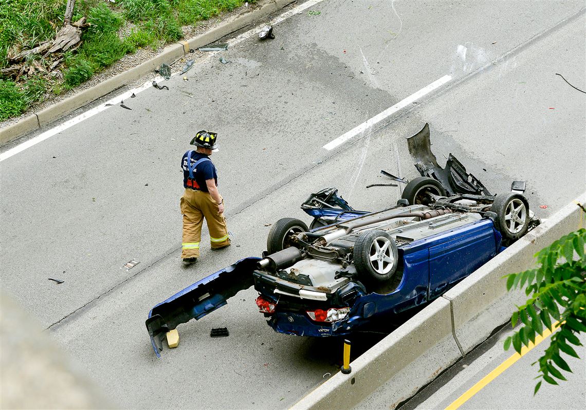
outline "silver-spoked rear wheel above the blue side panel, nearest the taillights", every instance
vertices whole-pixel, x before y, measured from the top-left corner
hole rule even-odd
[[[389,281],[397,264],[397,245],[389,233],[376,229],[360,234],[354,244],[354,266],[364,282]]]

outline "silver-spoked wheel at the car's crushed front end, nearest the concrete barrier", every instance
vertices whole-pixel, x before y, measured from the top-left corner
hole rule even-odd
[[[529,201],[522,194],[498,194],[490,211],[496,213],[496,228],[503,238],[514,241],[527,233],[530,220]]]

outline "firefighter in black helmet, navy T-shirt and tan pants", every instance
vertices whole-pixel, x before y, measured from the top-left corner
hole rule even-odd
[[[203,218],[206,218],[210,232],[212,250],[230,246],[224,217],[224,200],[217,189],[216,167],[209,158],[217,148],[216,141],[215,132],[197,132],[190,142],[197,148],[195,151],[187,151],[181,159],[185,187],[185,193],[180,200],[183,214],[181,258],[186,265],[195,263],[199,257]]]

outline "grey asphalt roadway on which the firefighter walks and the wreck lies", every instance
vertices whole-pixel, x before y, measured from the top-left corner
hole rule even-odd
[[[336,186],[357,209],[400,197],[385,169],[417,176],[404,139],[430,124],[495,192],[527,181],[538,216],[586,189],[584,2],[323,1],[202,59],[0,163],[2,288],[123,407],[284,408],[336,371],[339,346],[276,334],[253,289],[196,323],[156,360],[149,309],[239,258],[278,218]],[[315,14],[315,13],[314,13]],[[230,61],[221,64],[223,56]],[[323,145],[442,76],[445,86],[332,151]],[[179,162],[219,132],[220,193],[233,246],[180,265]],[[539,206],[547,206],[541,209]],[[140,263],[126,271],[131,259]],[[65,282],[57,285],[47,278]],[[212,327],[230,336],[211,339]],[[327,375],[326,375],[327,377]]]

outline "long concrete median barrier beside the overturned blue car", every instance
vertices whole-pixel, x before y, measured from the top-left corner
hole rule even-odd
[[[371,401],[393,409],[412,397],[525,302],[524,292],[507,292],[500,278],[533,267],[534,254],[583,227],[576,202],[586,202],[586,192],[358,357],[352,373],[333,375],[292,409],[370,408]]]

